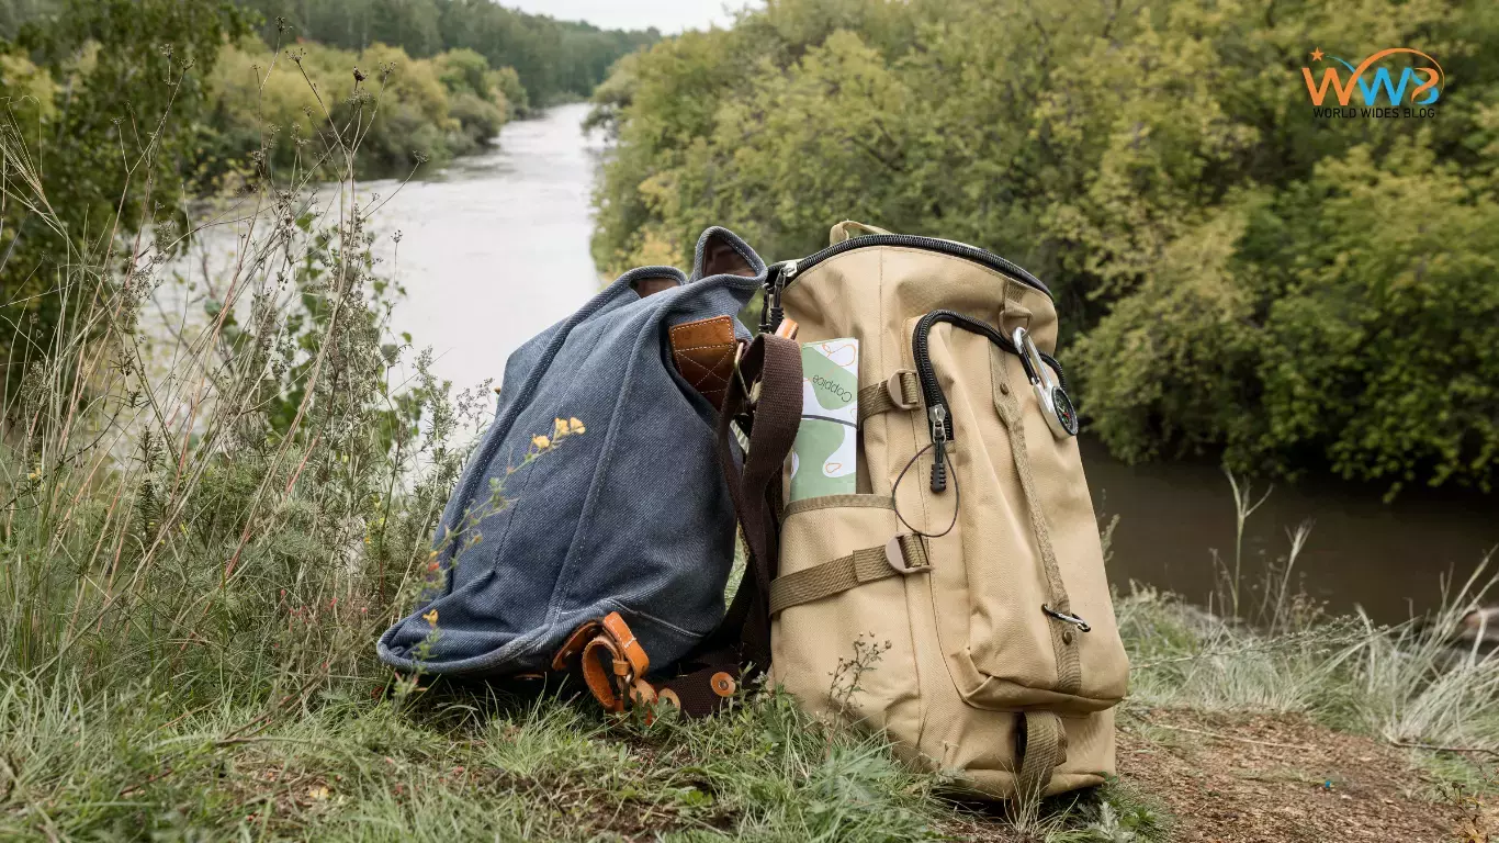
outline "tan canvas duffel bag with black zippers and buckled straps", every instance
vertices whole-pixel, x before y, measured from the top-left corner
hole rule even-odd
[[[772,267],[761,332],[859,340],[857,484],[781,513],[772,678],[977,794],[1097,784],[1129,662],[1051,294],[950,240],[830,240]]]

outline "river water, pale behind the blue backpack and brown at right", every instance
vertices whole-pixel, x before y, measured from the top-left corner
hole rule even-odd
[[[394,327],[417,348],[432,346],[435,369],[459,387],[498,381],[516,346],[601,284],[588,244],[603,144],[582,132],[586,112],[568,105],[511,123],[495,150],[399,192],[394,183],[367,186],[394,194],[378,226],[402,232],[387,255],[408,291]],[[1223,474],[1195,464],[1127,466],[1087,438],[1084,456],[1096,507],[1120,516],[1111,579],[1207,602],[1213,549],[1228,564],[1234,558],[1235,508]],[[1381,621],[1430,609],[1442,574],[1466,578],[1499,544],[1496,496],[1418,490],[1385,504],[1379,489],[1282,483],[1246,530],[1246,588],[1265,579],[1289,548],[1286,531],[1306,520],[1315,526],[1292,585],[1330,609],[1363,606]]]

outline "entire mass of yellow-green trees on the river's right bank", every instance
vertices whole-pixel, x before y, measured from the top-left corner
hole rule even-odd
[[[1313,117],[1315,48],[1387,46],[1441,60],[1438,117]],[[1496,477],[1493,4],[770,0],[597,100],[606,267],[715,222],[776,258],[844,218],[967,240],[1052,284],[1124,458]]]

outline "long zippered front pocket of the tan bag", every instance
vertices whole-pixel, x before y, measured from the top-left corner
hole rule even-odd
[[[901,513],[922,513],[914,524],[934,534],[932,615],[958,693],[994,711],[1112,706],[1124,694],[1127,662],[1087,482],[1076,464],[1037,459],[1076,442],[1057,442],[1024,386],[1019,358],[982,332],[934,324],[923,338],[937,382],[926,405],[944,399],[952,434],[947,483],[938,488],[937,474],[928,483],[923,471],[916,482],[907,477],[898,496]],[[895,452],[892,464],[934,440],[935,429],[916,430],[916,450]],[[1084,504],[1073,506],[1079,498]],[[926,513],[953,507],[958,519],[941,534],[943,519]]]

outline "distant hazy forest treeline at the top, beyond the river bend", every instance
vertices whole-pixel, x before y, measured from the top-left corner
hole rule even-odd
[[[10,0],[22,2],[22,0]],[[265,20],[265,40],[283,20],[292,34],[363,50],[400,46],[417,58],[472,50],[493,68],[514,68],[531,100],[585,98],[624,54],[660,38],[655,30],[601,30],[505,9],[492,0],[235,0]]]

